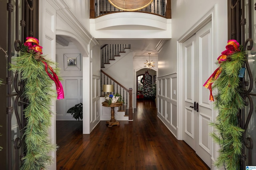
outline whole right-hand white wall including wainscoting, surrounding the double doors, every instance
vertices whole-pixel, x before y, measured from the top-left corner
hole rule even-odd
[[[178,61],[180,62],[180,64],[182,64],[182,60],[177,57],[177,41],[188,32],[191,32],[191,29],[193,29],[194,25],[196,25],[212,9],[214,9],[214,14],[212,16],[212,20],[214,20],[213,53],[215,59],[217,60],[220,53],[225,49],[228,40],[227,2],[223,0],[172,0],[172,39],[168,40],[158,53],[158,86],[161,92],[161,90],[166,89],[166,82],[170,82],[170,90],[167,91],[167,94],[171,97],[170,100],[168,96],[165,96],[166,91],[164,93],[161,92],[158,95],[158,107],[162,108],[158,108],[158,117],[160,117],[160,119],[166,124],[170,131],[180,140],[182,140],[183,117],[182,109],[180,109],[180,107],[182,107],[182,100],[180,100],[182,99],[182,93],[179,92],[182,92],[183,80],[182,70],[180,70],[180,66],[178,65]],[[166,80],[166,78],[172,78],[171,76],[175,75],[176,73],[177,78],[175,78],[174,76],[174,79],[176,80]],[[173,94],[173,90],[176,90],[176,99],[173,98],[175,97]],[[172,102],[172,104],[174,106],[176,105],[177,107],[166,107],[166,104],[170,102]],[[177,104],[175,104],[175,102]],[[168,113],[171,114],[171,117],[176,118],[176,120],[167,120],[167,118],[169,117]],[[175,125],[177,126],[175,127]],[[217,155],[215,147],[216,145],[212,147],[212,160],[214,160]]]

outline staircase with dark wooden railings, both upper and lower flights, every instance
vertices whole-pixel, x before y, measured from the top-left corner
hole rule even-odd
[[[101,47],[101,68],[107,69],[111,72],[111,61],[120,60],[121,57],[123,57],[122,53],[126,53],[127,49],[130,49],[130,44],[103,45]],[[124,112],[124,117],[128,117],[127,120],[132,120],[132,88],[127,89],[124,85],[122,85],[122,82],[115,80],[104,70],[101,70],[101,92],[103,84],[114,85],[114,92],[112,94],[119,93],[124,99],[124,104],[118,108],[118,112]],[[102,92],[101,96],[104,97],[105,95],[106,94]],[[115,112],[115,114],[118,116],[119,113]],[[116,117],[116,119],[118,118]]]

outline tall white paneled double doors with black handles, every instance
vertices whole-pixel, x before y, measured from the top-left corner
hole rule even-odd
[[[211,22],[183,43],[183,140],[211,167],[212,105],[203,87],[212,68]]]

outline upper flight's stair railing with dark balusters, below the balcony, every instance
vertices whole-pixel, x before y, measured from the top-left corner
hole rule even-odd
[[[100,48],[101,68],[105,64],[110,64],[110,60],[115,60],[115,57],[120,56],[120,53],[125,53],[125,49],[130,49],[130,44],[105,44]]]

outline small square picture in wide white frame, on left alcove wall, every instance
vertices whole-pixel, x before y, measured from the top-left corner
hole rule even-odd
[[[63,54],[64,70],[81,70],[81,54]]]

